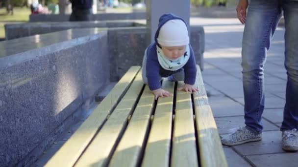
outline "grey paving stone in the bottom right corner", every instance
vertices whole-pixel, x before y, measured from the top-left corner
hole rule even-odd
[[[298,153],[252,155],[247,158],[256,167],[297,167]]]

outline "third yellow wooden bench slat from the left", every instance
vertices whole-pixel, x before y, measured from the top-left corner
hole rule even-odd
[[[137,166],[149,126],[153,103],[154,94],[151,93],[146,85],[109,167]]]

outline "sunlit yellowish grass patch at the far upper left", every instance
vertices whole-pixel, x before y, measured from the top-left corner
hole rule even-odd
[[[7,14],[6,8],[0,8],[0,38],[5,38],[5,23],[29,21],[30,13],[30,9],[26,7],[15,7],[14,15]]]

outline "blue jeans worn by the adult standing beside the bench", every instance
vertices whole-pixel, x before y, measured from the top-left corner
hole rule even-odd
[[[298,129],[298,1],[251,0],[242,43],[245,124],[263,130],[264,64],[277,23],[284,13],[285,68],[288,80],[281,130]]]

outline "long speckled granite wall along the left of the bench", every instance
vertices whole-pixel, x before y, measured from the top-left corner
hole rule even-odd
[[[1,167],[34,162],[109,83],[107,40],[81,29],[0,42]]]

